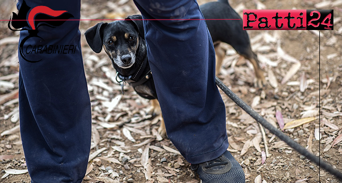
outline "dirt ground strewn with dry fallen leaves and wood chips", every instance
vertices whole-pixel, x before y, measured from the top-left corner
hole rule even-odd
[[[320,2],[231,1],[240,16],[243,9],[333,9],[334,30],[321,31],[320,37],[318,31],[249,31],[267,85],[253,87],[251,64],[228,45],[223,45],[227,52],[219,78],[277,128],[281,121],[291,124],[297,119],[313,119],[284,133],[342,171],[342,3]],[[0,0],[1,20],[10,18],[14,6],[14,1]],[[128,0],[84,0],[81,5],[81,19],[124,19],[132,14],[138,11]],[[172,142],[156,134],[160,122],[157,115],[148,113],[149,101],[128,86],[122,95],[107,55],[95,54],[85,42],[84,32],[98,22],[80,23],[93,116],[92,160],[83,182],[199,182]],[[14,128],[20,121],[16,95],[18,32],[10,31],[7,24],[0,21],[0,101],[11,93],[13,96],[0,103],[0,182],[28,183],[28,173],[6,173],[9,169],[27,169],[20,133]],[[223,93],[222,97],[227,111],[228,150],[241,163],[246,182],[341,182],[268,130],[269,156],[263,159],[266,147],[259,124]],[[114,105],[113,101],[119,102]]]

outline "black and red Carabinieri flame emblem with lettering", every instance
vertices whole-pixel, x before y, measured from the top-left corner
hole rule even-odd
[[[70,54],[70,51],[73,54],[75,52],[77,45],[28,45],[26,50],[23,50],[24,43],[30,38],[37,37],[44,40],[38,36],[39,27],[48,26],[55,28],[62,25],[69,18],[73,18],[71,14],[66,12],[55,11],[46,6],[31,8],[27,6],[25,1],[23,1],[18,15],[13,12],[12,21],[10,19],[8,24],[9,29],[12,31],[27,30],[29,32],[29,36],[25,37],[19,45],[19,52],[24,60],[32,63],[42,60],[29,60],[26,55],[30,54]],[[17,30],[11,28],[11,23],[12,27]]]

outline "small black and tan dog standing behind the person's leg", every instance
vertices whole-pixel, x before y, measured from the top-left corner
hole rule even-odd
[[[262,87],[265,84],[264,74],[259,67],[257,55],[250,48],[247,32],[242,30],[240,16],[229,6],[227,0],[210,2],[200,8],[205,19],[240,19],[206,21],[217,56],[216,74],[225,56],[225,50],[220,47],[220,42],[224,42],[252,63],[256,76],[254,83]],[[161,115],[148,63],[141,15],[129,16],[124,21],[98,23],[85,32],[85,38],[94,52],[100,53],[104,48],[117,71],[117,80],[129,83],[138,95],[151,99],[153,112]],[[163,121],[158,132],[166,136]]]

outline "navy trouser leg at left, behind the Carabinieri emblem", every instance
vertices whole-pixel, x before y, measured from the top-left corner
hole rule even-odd
[[[23,1],[20,0],[18,8]],[[26,1],[34,8],[46,6],[80,18],[80,1]],[[32,10],[32,9],[31,9]],[[19,54],[20,129],[32,182],[81,182],[91,144],[91,104],[80,47],[79,21],[38,28],[40,38],[23,47],[30,63]],[[29,36],[21,31],[20,42]],[[31,45],[31,47],[29,46]],[[33,46],[73,45],[67,54],[36,53]],[[65,48],[65,47],[64,47]],[[68,50],[66,50],[68,51]]]

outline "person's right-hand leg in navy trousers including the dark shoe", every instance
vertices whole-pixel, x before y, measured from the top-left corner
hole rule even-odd
[[[215,84],[215,51],[195,0],[135,0],[166,133],[203,182],[244,182],[226,150],[225,106]]]

